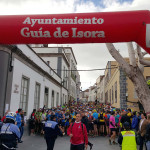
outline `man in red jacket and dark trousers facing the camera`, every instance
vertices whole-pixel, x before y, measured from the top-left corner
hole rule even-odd
[[[81,123],[81,115],[76,115],[76,121],[72,123],[67,131],[70,136],[70,150],[84,150],[88,147],[88,135],[86,126]]]

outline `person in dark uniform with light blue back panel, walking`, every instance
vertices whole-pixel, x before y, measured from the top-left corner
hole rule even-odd
[[[47,144],[47,150],[53,150],[57,136],[63,136],[62,129],[56,122],[56,116],[51,116],[51,121],[47,120],[44,126],[44,137]]]

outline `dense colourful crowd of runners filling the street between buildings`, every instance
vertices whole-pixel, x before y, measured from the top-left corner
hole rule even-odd
[[[16,125],[20,129],[22,137],[26,121],[22,109],[18,109],[16,113]],[[29,118],[30,135],[43,135],[43,127],[46,121],[50,121],[51,117],[54,116],[63,135],[65,135],[69,126],[76,121],[77,114],[81,115],[81,122],[86,126],[89,137],[107,136],[110,145],[118,144],[120,140],[115,141],[116,137],[121,135],[120,133],[124,130],[123,125],[128,123],[130,129],[139,135],[137,143],[140,145],[140,150],[143,149],[144,142],[147,145],[150,143],[150,116],[146,116],[144,112],[135,112],[131,109],[112,108],[110,105],[100,104],[97,101],[88,103],[72,102],[69,105],[65,104],[57,108],[34,109]],[[5,119],[6,116],[1,121],[5,122]],[[22,142],[21,137],[18,140],[19,143]]]

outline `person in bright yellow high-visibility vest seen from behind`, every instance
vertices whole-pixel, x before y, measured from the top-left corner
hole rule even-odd
[[[122,145],[122,150],[137,150],[135,132],[130,130],[130,123],[123,124],[124,131],[118,137],[118,143]]]

